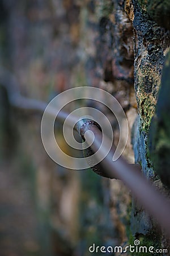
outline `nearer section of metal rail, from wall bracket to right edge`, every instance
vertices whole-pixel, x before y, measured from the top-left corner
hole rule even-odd
[[[90,131],[90,132],[89,132]],[[94,152],[100,147],[102,141],[102,133],[94,124],[83,125],[80,133],[83,139],[86,139],[87,143],[91,143],[92,133],[95,135],[95,140],[91,145]],[[102,148],[101,155],[105,155],[108,151],[107,145],[109,144],[108,138],[105,137],[105,144]],[[115,162],[113,162],[113,153],[115,147],[112,146],[108,155],[101,162],[106,174],[111,178],[121,179],[127,187],[130,188],[133,196],[141,203],[141,205],[154,216],[159,224],[164,228],[167,235],[170,237],[170,204],[165,197],[156,190],[154,185],[146,180],[137,167],[128,164],[126,160],[120,156]],[[101,157],[99,155],[99,158]]]

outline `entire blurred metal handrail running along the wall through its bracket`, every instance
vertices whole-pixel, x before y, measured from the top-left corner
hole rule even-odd
[[[0,72],[0,83],[7,90],[9,102],[15,108],[33,110],[41,113],[44,112],[47,104],[42,101],[23,97],[18,90],[15,78],[4,69],[1,69]],[[56,117],[54,108],[48,109],[48,113]],[[59,121],[64,122],[68,115],[68,113],[60,111],[57,118]],[[73,123],[72,121],[73,117],[71,117],[71,123]],[[102,134],[99,126],[97,126],[94,121],[89,122],[87,119],[81,119],[77,125],[75,125],[74,129],[78,131],[83,140],[86,140],[87,144],[91,145],[91,150],[96,152],[100,147],[103,136],[105,136]],[[91,131],[95,135],[95,139],[92,144]],[[100,151],[100,155],[98,155],[99,158],[101,156],[105,156],[105,152],[108,152],[107,144],[110,144],[108,140],[109,139],[105,137],[105,144]],[[158,220],[160,226],[165,230],[165,234],[170,237],[169,201],[158,190],[156,190],[154,185],[148,181],[145,176],[142,175],[142,172],[137,165],[128,164],[122,156],[113,162],[112,157],[114,151],[115,147],[113,145],[107,156],[105,156],[104,160],[100,163],[101,170],[104,170],[104,176],[111,179],[121,179],[148,213]],[[101,175],[102,172],[103,171],[100,171]]]

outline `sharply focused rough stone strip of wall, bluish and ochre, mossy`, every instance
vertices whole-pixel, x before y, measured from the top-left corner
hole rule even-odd
[[[158,99],[164,56],[169,47],[169,31],[155,23],[151,18],[152,15],[148,14],[147,7],[151,11],[151,3],[149,6],[144,1],[132,1],[132,3],[134,11],[134,86],[139,113],[134,123],[132,142],[135,162],[140,163],[145,176],[154,181],[158,177],[148,157],[147,139]],[[155,222],[152,222],[135,201],[132,212],[133,234],[138,238],[141,237],[141,234],[145,235],[145,241],[150,241],[153,246],[158,245],[161,241],[161,233],[156,228]],[[154,239],[152,234],[156,234]]]

